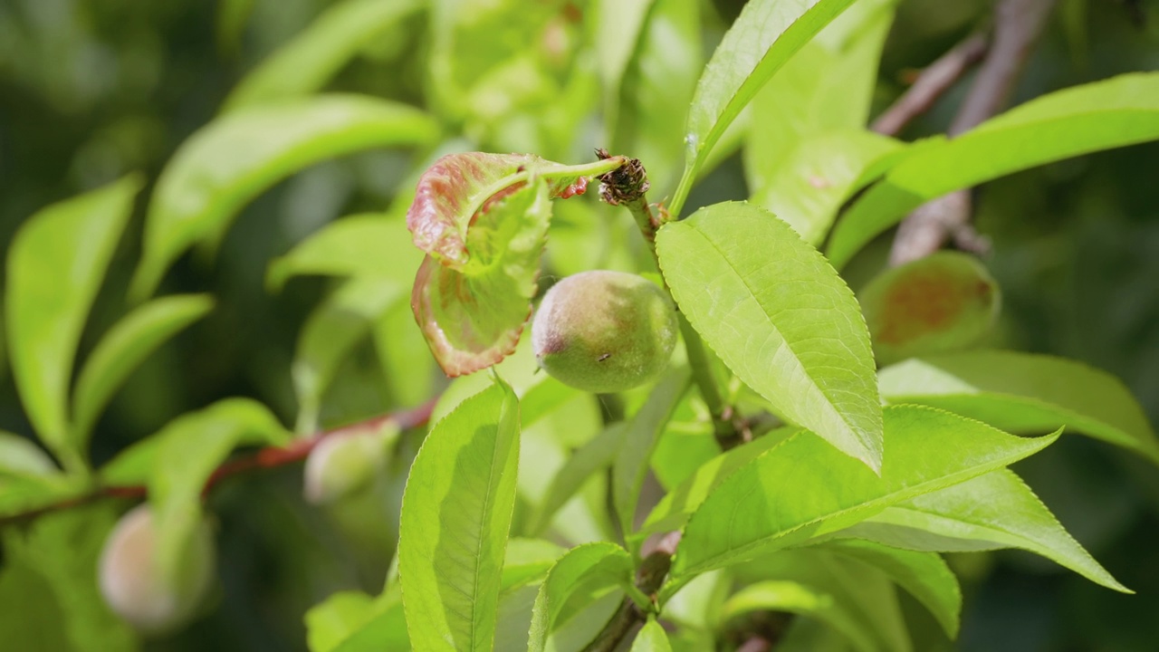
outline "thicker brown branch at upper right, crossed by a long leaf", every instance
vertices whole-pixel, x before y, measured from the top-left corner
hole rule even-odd
[[[949,136],[969,131],[1001,110],[1054,7],[1055,0],[997,0],[990,51],[949,125]],[[969,190],[958,190],[920,207],[898,229],[890,265],[930,255],[952,238],[960,248],[984,248],[985,239],[970,225],[971,212]]]

